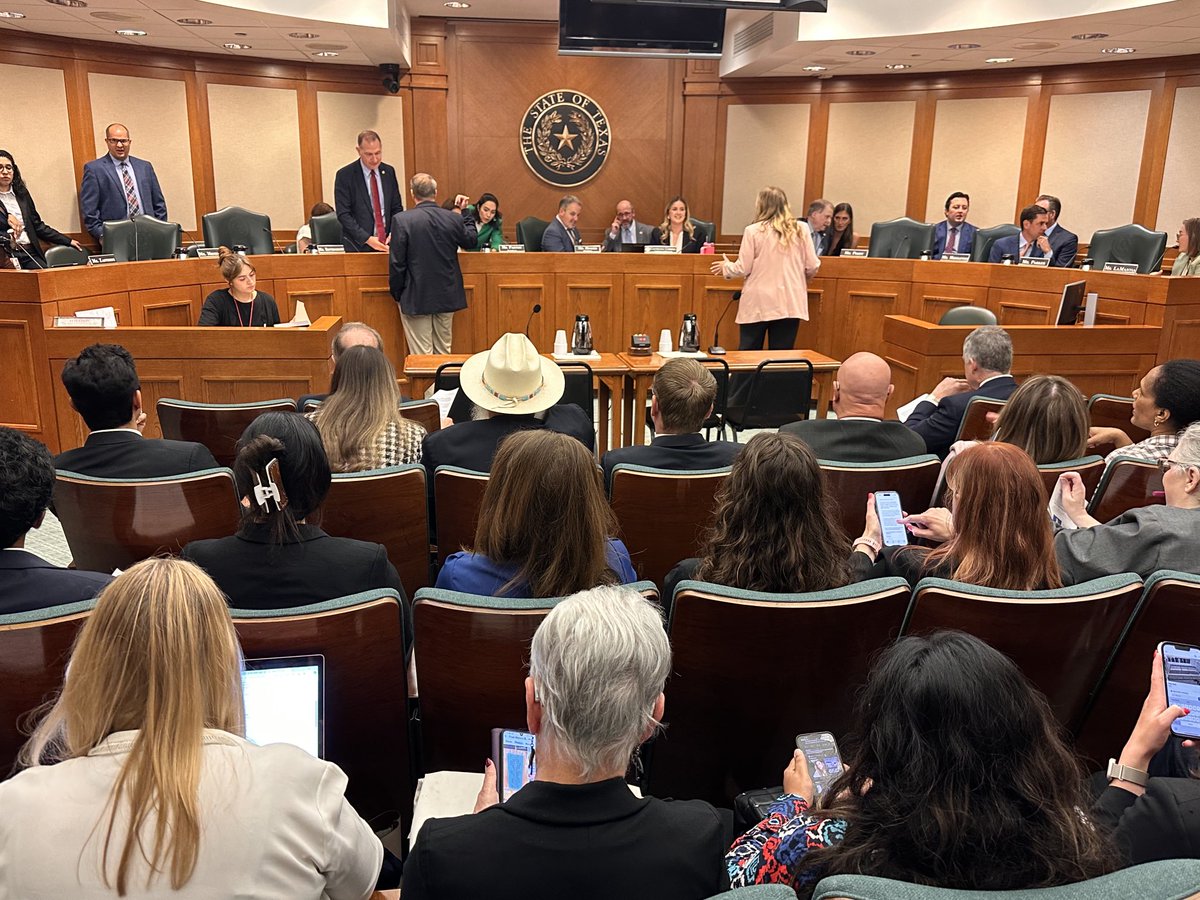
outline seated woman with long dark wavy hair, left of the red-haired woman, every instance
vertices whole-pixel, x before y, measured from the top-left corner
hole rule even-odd
[[[716,492],[700,557],[667,574],[662,596],[670,604],[689,578],[780,594],[840,588],[852,578],[838,522],[808,445],[791,434],[755,434]]]

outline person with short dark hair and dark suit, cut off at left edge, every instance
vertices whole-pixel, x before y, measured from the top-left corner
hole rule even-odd
[[[0,428],[0,614],[91,600],[109,581],[100,572],[60,569],[25,550],[54,493],[54,462],[38,440]]]

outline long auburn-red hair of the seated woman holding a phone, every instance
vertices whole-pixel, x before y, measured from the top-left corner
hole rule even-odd
[[[1020,448],[991,440],[950,460],[954,536],[925,558],[926,571],[949,560],[954,580],[1002,590],[1062,587],[1046,511],[1046,488]]]

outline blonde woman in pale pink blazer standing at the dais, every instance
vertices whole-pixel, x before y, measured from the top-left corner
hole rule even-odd
[[[739,350],[761,350],[768,337],[773,350],[796,346],[800,319],[809,318],[808,280],[820,266],[812,234],[792,215],[787,194],[779,187],[762,188],[738,258],[730,262],[722,254],[713,263],[713,275],[745,278],[737,316]]]

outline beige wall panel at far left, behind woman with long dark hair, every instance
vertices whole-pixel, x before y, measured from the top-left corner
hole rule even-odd
[[[62,70],[0,65],[0,84],[20,85],[5,94],[5,120],[10,125],[37,122],[36,128],[5,128],[0,145],[17,157],[42,221],[60,232],[80,230]]]

